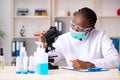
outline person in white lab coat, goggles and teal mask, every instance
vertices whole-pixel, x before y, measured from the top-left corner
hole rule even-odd
[[[74,14],[70,31],[54,43],[56,62],[65,58],[74,69],[114,68],[120,64],[120,55],[110,38],[95,29],[96,20],[95,12],[87,7]]]

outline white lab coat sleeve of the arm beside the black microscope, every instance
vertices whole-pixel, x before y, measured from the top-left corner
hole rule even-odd
[[[55,52],[52,53],[52,55],[57,55],[57,57],[54,58],[54,63],[56,64],[57,62],[59,62],[62,58],[64,58],[63,56],[63,52],[62,52],[62,42],[61,42],[61,37],[58,37],[58,39],[55,41],[55,43],[53,44],[53,46],[55,47]]]

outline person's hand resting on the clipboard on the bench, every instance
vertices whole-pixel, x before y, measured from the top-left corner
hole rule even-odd
[[[95,65],[93,63],[81,61],[78,59],[71,60],[71,62],[73,64],[74,69],[87,69],[87,68],[94,68],[95,67]]]

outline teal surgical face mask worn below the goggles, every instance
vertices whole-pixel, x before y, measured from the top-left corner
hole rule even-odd
[[[85,38],[85,32],[76,32],[70,27],[70,34],[73,38],[83,40]]]

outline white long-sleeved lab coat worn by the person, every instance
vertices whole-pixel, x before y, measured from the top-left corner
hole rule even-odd
[[[70,60],[74,59],[89,61],[101,68],[114,68],[120,64],[120,55],[103,30],[93,29],[82,41],[68,32],[59,36],[53,45],[58,55],[55,62],[65,58],[69,66],[72,66]]]

